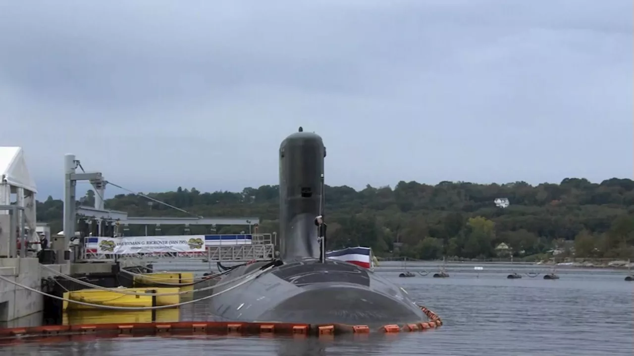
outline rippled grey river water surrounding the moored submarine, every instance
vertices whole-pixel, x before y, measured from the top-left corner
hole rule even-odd
[[[474,270],[475,266],[483,270]],[[200,270],[201,264],[157,265],[156,270]],[[207,265],[202,266],[206,268]],[[438,264],[408,263],[411,271],[436,272]],[[344,355],[632,355],[634,283],[627,270],[508,264],[448,264],[451,277],[399,278],[399,262],[377,269],[402,286],[444,322],[423,333],[371,334],[297,339],[290,337],[135,337],[90,341],[33,342],[3,346],[0,355],[25,356],[344,356]],[[511,270],[538,277],[507,279]],[[212,320],[206,303],[187,305],[181,320]],[[105,312],[108,313],[108,312]],[[172,312],[174,313],[174,312]]]

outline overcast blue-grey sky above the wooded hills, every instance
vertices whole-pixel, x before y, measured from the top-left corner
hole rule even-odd
[[[631,0],[0,2],[0,145],[136,191],[633,175]],[[125,193],[109,188],[109,194]],[[44,196],[42,196],[44,195]]]

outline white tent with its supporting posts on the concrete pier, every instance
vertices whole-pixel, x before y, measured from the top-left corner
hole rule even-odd
[[[29,174],[22,148],[0,147],[0,206],[15,205],[23,208],[13,210],[18,214],[16,221],[19,224],[24,219],[27,238],[35,243],[39,241],[36,231],[36,194],[36,183]],[[10,209],[0,209],[0,215],[9,214]],[[14,241],[9,242],[7,246],[11,247],[8,247],[8,250],[13,250]],[[32,248],[39,250],[40,246],[35,244]],[[13,256],[14,253],[15,251],[11,251],[9,255]]]

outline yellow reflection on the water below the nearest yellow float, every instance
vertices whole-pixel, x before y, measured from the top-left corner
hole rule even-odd
[[[154,322],[178,322],[179,309],[155,310]],[[115,324],[115,323],[152,322],[152,310],[68,310],[62,315],[63,325],[79,324]]]

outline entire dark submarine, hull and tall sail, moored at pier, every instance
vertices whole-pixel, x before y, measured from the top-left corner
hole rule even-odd
[[[323,139],[280,144],[280,227],[273,261],[237,265],[218,281],[208,311],[224,321],[381,327],[426,320],[408,293],[375,272],[325,258]],[[243,276],[262,273],[245,283]],[[231,282],[235,281],[235,282]],[[243,283],[236,286],[238,283]],[[233,288],[232,288],[233,287]]]

